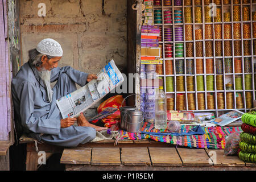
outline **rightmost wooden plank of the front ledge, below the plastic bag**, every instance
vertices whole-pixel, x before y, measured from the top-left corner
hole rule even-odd
[[[213,160],[213,166],[232,166],[232,167],[243,167],[245,162],[240,160],[237,155],[225,156],[224,150],[206,150],[207,154]]]

